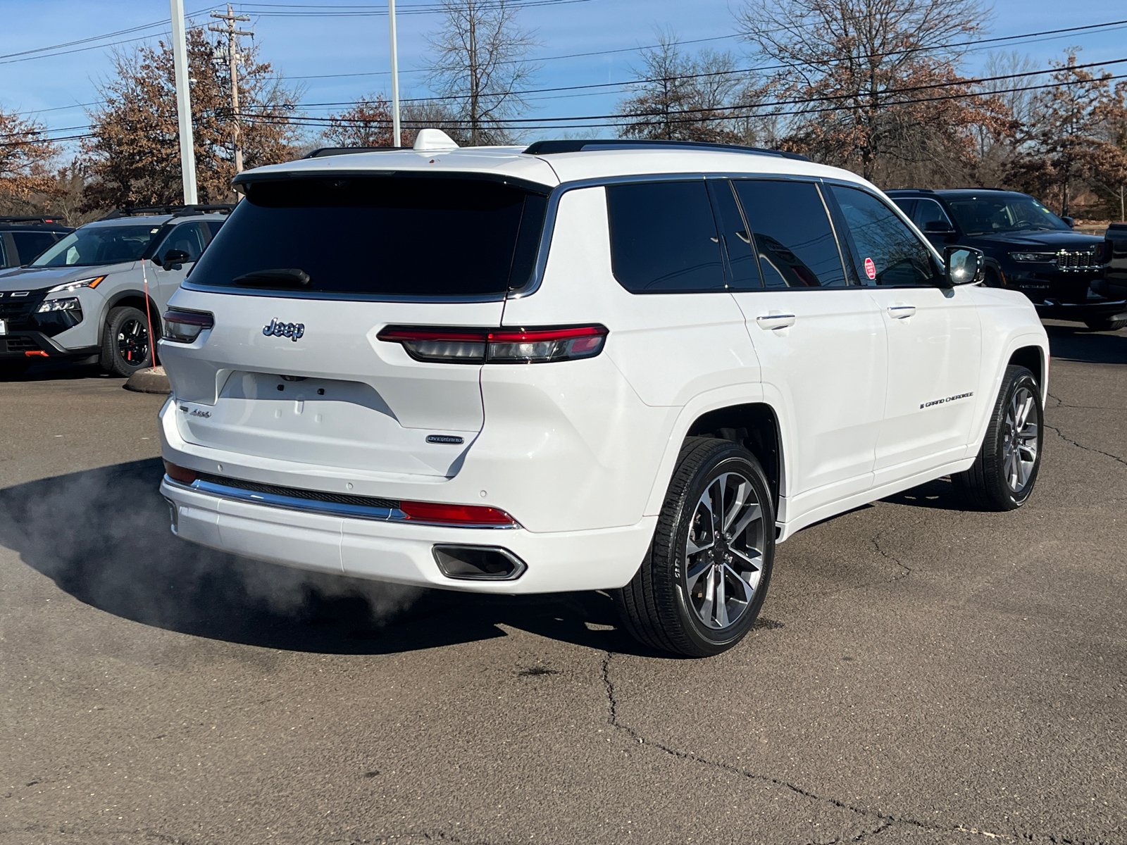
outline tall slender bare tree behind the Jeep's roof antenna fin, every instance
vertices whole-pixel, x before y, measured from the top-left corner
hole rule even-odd
[[[449,98],[450,112],[471,145],[505,143],[506,121],[526,109],[521,95],[539,66],[529,52],[539,45],[520,27],[509,0],[443,0],[445,20],[428,36],[434,70],[427,82]]]

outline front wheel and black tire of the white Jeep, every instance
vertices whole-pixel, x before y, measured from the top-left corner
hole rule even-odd
[[[1014,406],[1024,408],[1027,400],[1028,409],[1022,415]],[[1035,418],[1031,422],[1030,417]],[[1037,377],[1026,367],[1011,364],[1005,368],[978,456],[969,470],[951,475],[951,481],[976,510],[1019,508],[1033,492],[1044,443],[1045,411]],[[1027,456],[1032,460],[1026,461]]]

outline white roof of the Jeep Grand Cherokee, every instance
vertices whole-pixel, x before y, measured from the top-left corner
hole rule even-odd
[[[616,177],[687,174],[762,174],[843,179],[868,185],[864,179],[810,161],[778,154],[707,146],[654,149],[595,149],[582,152],[530,154],[522,146],[468,146],[451,150],[380,150],[300,159],[245,171],[239,181],[283,174],[312,176],[371,171],[415,174],[446,171],[509,177],[554,187],[561,183]]]

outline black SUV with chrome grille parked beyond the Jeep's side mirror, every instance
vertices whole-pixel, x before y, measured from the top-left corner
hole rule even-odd
[[[888,196],[943,247],[986,254],[986,284],[1021,291],[1041,317],[1075,320],[1095,330],[1127,319],[1127,300],[1101,290],[1103,239],[1072,229],[1028,194],[995,188],[889,190]]]

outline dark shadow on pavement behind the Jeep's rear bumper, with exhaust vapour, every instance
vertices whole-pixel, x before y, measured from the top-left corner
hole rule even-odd
[[[186,543],[157,459],[0,490],[0,545],[80,602],[170,631],[265,648],[392,653],[505,637],[500,624],[655,655],[600,593],[478,596],[303,572]],[[656,655],[655,655],[656,656]]]

